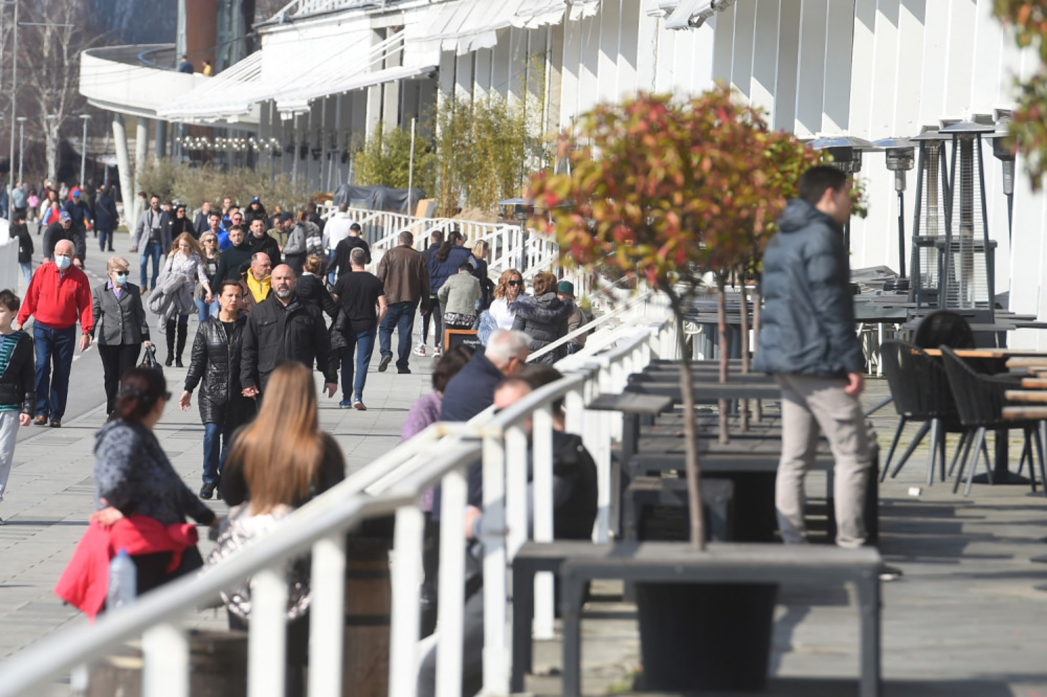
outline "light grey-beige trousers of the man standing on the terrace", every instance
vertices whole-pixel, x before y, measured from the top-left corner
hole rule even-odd
[[[778,530],[785,544],[804,541],[804,477],[815,462],[819,429],[836,459],[837,544],[865,542],[865,488],[872,465],[862,403],[838,378],[776,374],[782,388],[782,455],[775,484]]]

